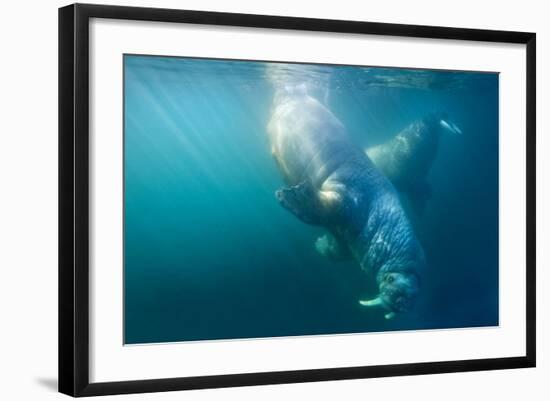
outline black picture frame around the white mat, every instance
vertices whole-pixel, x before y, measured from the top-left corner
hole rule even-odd
[[[526,354],[520,357],[90,383],[88,61],[91,18],[438,38],[526,46]],[[535,366],[536,35],[479,29],[74,4],[59,9],[59,391],[158,392]]]

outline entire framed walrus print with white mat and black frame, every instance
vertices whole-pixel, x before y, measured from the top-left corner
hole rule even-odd
[[[535,34],[59,10],[59,390],[535,366]]]

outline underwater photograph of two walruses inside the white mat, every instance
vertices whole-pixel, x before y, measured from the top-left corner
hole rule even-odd
[[[499,324],[499,75],[124,56],[124,342]]]

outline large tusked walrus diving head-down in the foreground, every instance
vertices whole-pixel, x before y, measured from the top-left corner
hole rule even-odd
[[[276,84],[267,130],[287,184],[275,193],[280,204],[326,228],[335,254],[376,280],[378,296],[361,305],[382,306],[387,319],[410,311],[426,262],[394,186],[307,86]]]

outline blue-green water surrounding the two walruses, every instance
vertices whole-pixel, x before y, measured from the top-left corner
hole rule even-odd
[[[386,320],[357,262],[316,253],[321,228],[274,192],[268,63],[124,59],[127,344],[498,325],[498,74],[279,65],[307,81],[360,147],[434,111],[441,137],[413,312]]]

